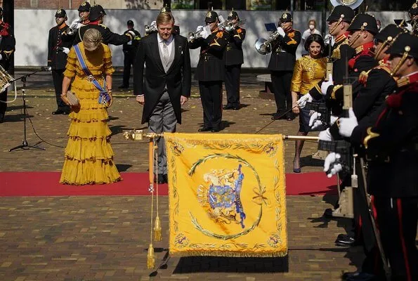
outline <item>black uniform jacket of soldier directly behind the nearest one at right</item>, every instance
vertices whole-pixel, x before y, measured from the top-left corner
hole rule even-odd
[[[396,81],[391,76],[391,70],[382,60],[379,66],[360,74],[357,84],[361,87],[353,100],[355,117],[364,126],[373,126],[387,96],[395,91]],[[334,139],[339,138],[337,122],[331,126],[330,132]]]

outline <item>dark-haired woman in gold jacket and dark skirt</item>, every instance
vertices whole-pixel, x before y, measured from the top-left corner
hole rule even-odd
[[[310,35],[305,41],[305,50],[308,55],[296,60],[292,77],[292,107],[293,112],[299,114],[298,136],[306,136],[309,129],[309,110],[299,109],[296,102],[301,96],[309,92],[321,79],[325,77],[327,60],[322,57],[324,53],[324,39],[319,34]],[[294,173],[301,172],[301,151],[303,141],[296,141],[293,159]]]

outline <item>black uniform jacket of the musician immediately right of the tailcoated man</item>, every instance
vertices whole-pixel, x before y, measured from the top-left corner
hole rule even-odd
[[[195,79],[198,81],[223,81],[225,65],[223,64],[223,49],[226,47],[228,32],[214,30],[206,39],[192,39],[190,48],[200,47],[200,58],[197,63]]]

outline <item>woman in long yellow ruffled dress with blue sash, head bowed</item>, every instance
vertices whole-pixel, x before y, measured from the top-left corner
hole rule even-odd
[[[79,48],[86,66],[100,85],[103,85],[103,76],[105,76],[106,86],[111,95],[112,73],[115,70],[112,67],[110,48],[102,44],[101,39],[98,30],[87,30]],[[107,107],[98,103],[99,91],[86,78],[73,47],[68,53],[62,98],[69,104],[65,93],[71,84],[79,105],[71,107],[71,124],[67,133],[69,140],[65,148],[65,162],[60,183],[71,185],[115,183],[121,180],[121,176],[113,162],[113,150],[110,145],[112,132],[107,126],[109,118]]]

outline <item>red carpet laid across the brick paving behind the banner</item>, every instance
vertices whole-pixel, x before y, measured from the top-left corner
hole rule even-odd
[[[0,172],[0,196],[150,195],[148,173],[122,173],[123,181],[108,185],[62,185],[60,172]],[[287,174],[287,195],[336,193],[336,178],[325,173]],[[167,195],[159,185],[159,195]]]

